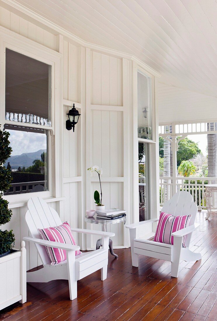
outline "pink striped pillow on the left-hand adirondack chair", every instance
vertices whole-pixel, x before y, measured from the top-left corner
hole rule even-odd
[[[47,229],[38,229],[41,239],[59,242],[64,244],[76,245],[73,238],[71,227],[68,222],[65,222],[59,226],[49,227]],[[63,262],[66,260],[66,250],[56,247],[47,247],[48,256],[50,257],[51,265]],[[79,255],[80,250],[75,251],[75,255]]]

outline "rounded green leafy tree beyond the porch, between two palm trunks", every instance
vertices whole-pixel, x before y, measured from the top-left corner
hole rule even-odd
[[[181,136],[178,136],[177,139],[180,137]],[[177,166],[179,166],[183,160],[190,160],[200,153],[201,150],[198,147],[198,143],[195,143],[188,137],[185,137],[180,140],[178,144]]]

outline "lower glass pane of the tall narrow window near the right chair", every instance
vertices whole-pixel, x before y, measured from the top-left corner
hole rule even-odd
[[[150,219],[149,208],[149,144],[139,143],[139,217]]]

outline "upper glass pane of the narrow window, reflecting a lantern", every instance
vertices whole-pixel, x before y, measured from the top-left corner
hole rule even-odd
[[[138,137],[152,139],[151,133],[151,79],[139,71],[138,86]]]

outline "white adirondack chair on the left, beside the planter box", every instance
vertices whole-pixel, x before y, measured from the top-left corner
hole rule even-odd
[[[58,213],[40,197],[32,197],[28,201],[26,222],[32,237],[24,237],[25,241],[33,242],[41,258],[43,268],[33,272],[27,272],[27,282],[49,282],[52,280],[68,280],[70,299],[77,298],[77,281],[85,276],[101,269],[101,280],[107,277],[109,237],[114,236],[111,232],[94,230],[71,229],[72,232],[94,234],[102,236],[102,249],[81,253],[75,256],[79,246],[42,240],[38,229],[54,227],[62,224]],[[66,250],[67,260],[50,265],[50,258],[45,245],[48,247],[62,248]]]

